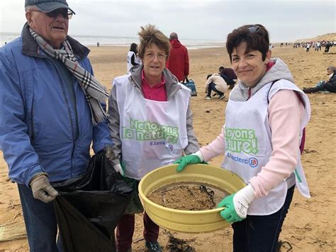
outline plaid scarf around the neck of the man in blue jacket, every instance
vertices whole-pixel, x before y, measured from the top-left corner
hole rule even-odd
[[[38,33],[35,33],[32,28],[29,28],[29,31],[36,43],[38,43],[38,46],[46,55],[55,60],[61,60],[67,69],[72,72],[72,75],[77,78],[79,86],[84,92],[86,101],[89,103],[92,124],[96,126],[96,124],[104,121],[107,118],[107,114],[101,106],[101,102],[105,102],[108,97],[106,87],[99,83],[93,75],[79,65],[77,58],[74,56],[74,53],[72,53],[69,41],[66,39],[62,43],[62,48],[56,50],[38,35]]]

